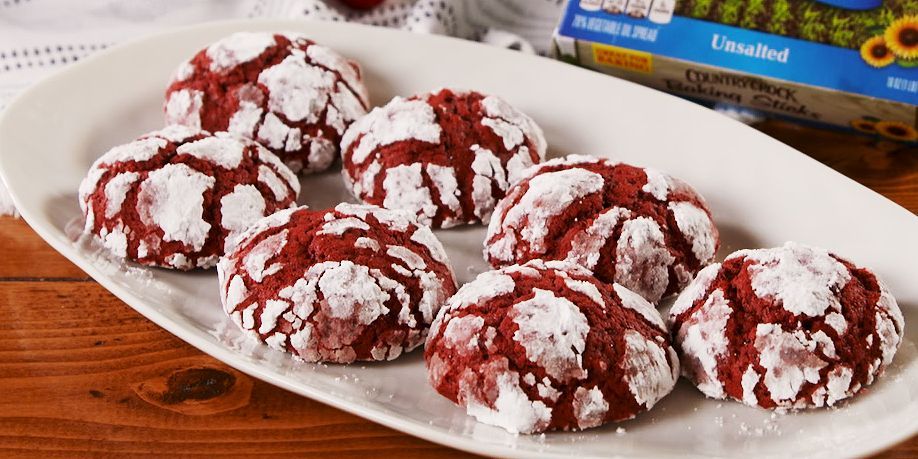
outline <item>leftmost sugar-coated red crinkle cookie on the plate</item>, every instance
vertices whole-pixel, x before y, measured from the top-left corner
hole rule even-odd
[[[277,156],[226,133],[168,126],[112,148],[80,184],[85,231],[138,263],[210,268],[258,219],[296,204]]]

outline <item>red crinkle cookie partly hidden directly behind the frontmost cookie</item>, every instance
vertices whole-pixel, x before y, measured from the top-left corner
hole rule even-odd
[[[717,228],[704,199],[679,179],[590,156],[535,166],[498,203],[485,258],[506,266],[568,260],[651,303],[714,260]]]

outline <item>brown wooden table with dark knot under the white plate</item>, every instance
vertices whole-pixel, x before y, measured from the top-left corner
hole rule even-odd
[[[918,213],[918,148],[761,130]],[[0,217],[0,455],[453,456],[257,381],[170,335]],[[915,324],[912,324],[913,326]],[[880,455],[918,456],[918,437]]]

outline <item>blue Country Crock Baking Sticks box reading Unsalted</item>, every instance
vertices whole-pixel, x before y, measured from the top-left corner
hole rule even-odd
[[[699,102],[918,141],[918,0],[570,0],[552,54]]]

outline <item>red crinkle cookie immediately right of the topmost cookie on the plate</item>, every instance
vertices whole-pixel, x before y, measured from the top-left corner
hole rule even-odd
[[[520,173],[545,158],[542,129],[495,96],[442,89],[373,109],[341,141],[358,199],[448,228],[487,222]]]

